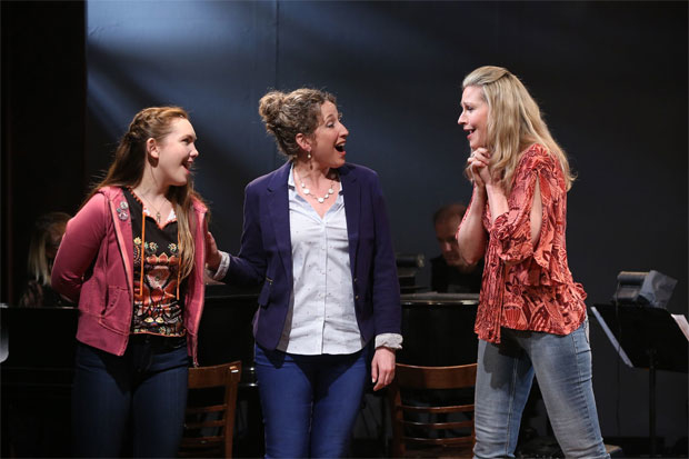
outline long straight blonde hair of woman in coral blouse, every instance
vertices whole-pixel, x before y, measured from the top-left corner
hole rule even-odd
[[[569,169],[567,154],[550,134],[538,104],[519,78],[502,67],[485,66],[465,78],[462,88],[470,86],[481,88],[488,103],[486,147],[491,152],[491,168],[500,177],[502,188],[511,189],[520,153],[531,143],[540,143],[557,158],[569,190],[575,174]]]

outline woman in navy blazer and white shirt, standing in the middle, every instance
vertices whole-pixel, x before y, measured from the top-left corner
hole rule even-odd
[[[332,94],[271,91],[259,113],[289,160],[247,186],[241,250],[222,267],[231,259],[228,282],[262,283],[266,457],[344,457],[367,383],[392,381],[402,341],[382,191],[376,172],[344,161]]]

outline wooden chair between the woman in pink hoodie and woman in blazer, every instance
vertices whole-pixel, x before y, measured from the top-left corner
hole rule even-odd
[[[189,369],[189,398],[179,457],[232,457],[241,361]]]

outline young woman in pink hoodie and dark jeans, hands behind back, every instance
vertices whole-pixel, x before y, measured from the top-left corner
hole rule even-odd
[[[191,180],[196,141],[183,109],[140,111],[67,224],[52,287],[79,303],[77,456],[120,456],[129,422],[133,457],[177,455],[211,240]]]

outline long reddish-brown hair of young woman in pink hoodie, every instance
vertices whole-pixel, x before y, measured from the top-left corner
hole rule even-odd
[[[147,159],[147,140],[156,139],[156,141],[162,141],[172,131],[172,121],[180,118],[189,119],[189,114],[181,107],[150,107],[138,112],[114,151],[114,161],[110,164],[106,178],[93,187],[86,201],[103,187],[137,187],[143,177]],[[180,279],[184,279],[193,270],[196,251],[192,231],[193,224],[198,224],[198,222],[192,220],[191,217],[193,214],[192,198],[198,199],[200,202],[203,202],[203,200],[193,190],[191,177],[183,186],[170,187],[166,198],[170,200],[174,208],[174,213],[177,213],[180,245]]]

